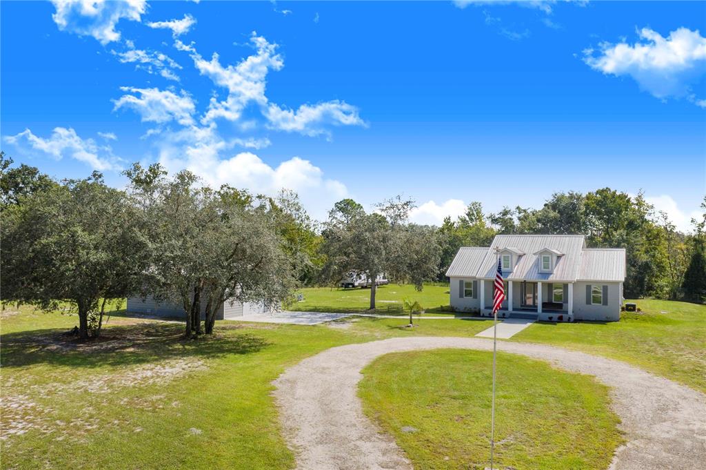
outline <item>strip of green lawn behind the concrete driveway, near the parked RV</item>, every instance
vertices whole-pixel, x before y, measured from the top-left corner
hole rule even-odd
[[[287,305],[289,310],[302,312],[363,312],[370,307],[369,288],[328,288],[312,287],[299,290],[304,295],[303,302]],[[419,291],[405,284],[379,286],[376,293],[376,313],[401,315],[402,301],[405,298],[419,301],[426,312],[441,312],[448,309],[448,286],[425,285]],[[445,315],[450,315],[447,312]]]

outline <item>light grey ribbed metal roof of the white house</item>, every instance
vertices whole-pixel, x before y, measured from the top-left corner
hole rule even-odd
[[[490,247],[462,247],[446,271],[449,277],[495,277],[496,249],[522,252],[512,272],[514,281],[616,281],[625,279],[625,249],[587,249],[584,235],[496,235]],[[551,273],[540,272],[539,254],[561,253]]]

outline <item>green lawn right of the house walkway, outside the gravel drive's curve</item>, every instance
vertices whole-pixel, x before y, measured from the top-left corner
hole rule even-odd
[[[556,344],[624,360],[706,393],[706,305],[631,301],[642,312],[623,312],[620,322],[536,323],[512,341]]]

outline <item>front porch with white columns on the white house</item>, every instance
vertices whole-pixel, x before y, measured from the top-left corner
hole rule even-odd
[[[479,279],[481,315],[493,311],[493,280]],[[505,300],[498,317],[572,321],[573,283],[505,281]]]

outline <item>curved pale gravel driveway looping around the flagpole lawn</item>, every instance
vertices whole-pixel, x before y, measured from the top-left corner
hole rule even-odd
[[[289,446],[302,470],[412,469],[392,437],[381,433],[357,397],[360,370],[378,356],[433,348],[492,350],[479,338],[416,337],[330,348],[275,380]],[[704,469],[706,396],[617,360],[529,343],[498,342],[498,351],[547,360],[594,375],[611,387],[612,408],[628,444],[611,469]]]

